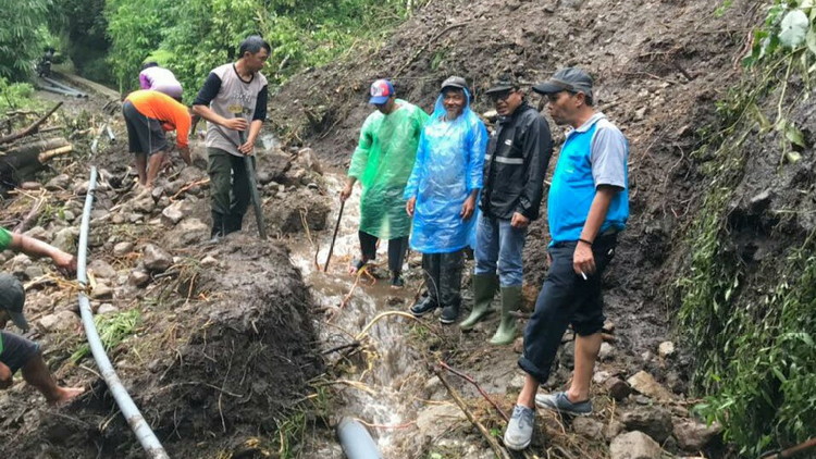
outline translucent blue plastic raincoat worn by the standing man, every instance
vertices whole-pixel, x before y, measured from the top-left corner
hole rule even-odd
[[[436,99],[405,188],[405,199],[417,198],[410,245],[421,253],[449,253],[475,241],[478,206],[468,220],[459,213],[470,193],[482,188],[489,137],[465,94],[466,106],[454,121],[445,120],[443,96]]]

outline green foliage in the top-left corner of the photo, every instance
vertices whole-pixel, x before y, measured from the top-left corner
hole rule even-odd
[[[50,0],[0,0],[0,77],[26,79],[42,53]]]

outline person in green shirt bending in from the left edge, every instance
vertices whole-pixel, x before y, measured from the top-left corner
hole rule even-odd
[[[0,251],[11,249],[30,257],[49,257],[63,274],[76,271],[76,259],[57,247],[22,234],[10,233],[0,227]],[[28,322],[23,314],[25,290],[16,277],[0,273],[0,328],[9,320],[23,332]],[[63,404],[85,392],[82,387],[63,387],[48,370],[42,360],[40,346],[20,335],[0,330],[0,389],[13,384],[13,376],[22,370],[23,379],[36,387],[49,404]]]

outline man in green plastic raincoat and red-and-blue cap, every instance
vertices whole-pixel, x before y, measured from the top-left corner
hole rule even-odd
[[[360,251],[362,257],[353,262],[359,271],[376,258],[378,239],[388,241],[391,285],[401,287],[403,259],[408,248],[411,219],[405,212],[405,185],[413,169],[417,146],[428,114],[417,106],[397,99],[387,79],[371,85],[369,103],[376,107],[360,129],[360,141],[351,157],[346,186],[341,200],[351,195],[355,182],[360,182]]]

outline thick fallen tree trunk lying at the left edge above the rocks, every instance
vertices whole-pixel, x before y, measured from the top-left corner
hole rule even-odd
[[[73,151],[71,142],[62,137],[37,140],[0,152],[0,179],[4,184],[18,184],[45,169],[54,157]]]

